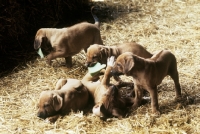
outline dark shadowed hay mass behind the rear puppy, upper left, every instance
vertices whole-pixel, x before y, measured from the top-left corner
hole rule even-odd
[[[89,0],[1,0],[0,3],[0,77],[5,70],[9,72],[37,57],[33,40],[39,28],[94,21]]]

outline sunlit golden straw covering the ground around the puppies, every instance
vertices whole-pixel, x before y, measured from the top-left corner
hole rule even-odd
[[[117,3],[118,2],[118,3]],[[0,79],[0,133],[182,133],[200,132],[200,3],[198,0],[113,1],[138,12],[121,13],[115,21],[101,24],[106,45],[136,41],[154,52],[167,48],[178,61],[184,103],[174,102],[174,84],[166,77],[159,85],[161,116],[151,116],[150,104],[143,105],[122,120],[101,121],[91,112],[71,112],[50,124],[36,117],[41,91],[53,90],[59,78],[81,79],[86,73],[85,54],[73,58],[72,69],[62,67],[63,59],[49,67],[45,59],[15,68]],[[126,78],[124,78],[126,79]],[[187,93],[186,93],[187,92]],[[188,95],[188,96],[187,96]],[[188,102],[187,98],[193,98]]]

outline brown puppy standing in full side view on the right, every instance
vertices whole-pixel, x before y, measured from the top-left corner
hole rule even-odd
[[[176,97],[181,97],[176,58],[168,50],[162,50],[150,59],[141,58],[130,52],[123,53],[116,59],[112,73],[113,75],[125,74],[133,77],[135,90],[133,108],[140,105],[145,89],[150,93],[152,112],[159,115],[157,85],[166,75],[169,75],[174,81]]]

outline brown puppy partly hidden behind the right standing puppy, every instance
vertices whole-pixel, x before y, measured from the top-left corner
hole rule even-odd
[[[96,62],[106,64],[108,57],[115,56],[117,58],[124,52],[132,52],[143,58],[150,58],[152,56],[143,46],[134,42],[115,44],[111,47],[94,44],[87,49],[86,66],[93,66]]]

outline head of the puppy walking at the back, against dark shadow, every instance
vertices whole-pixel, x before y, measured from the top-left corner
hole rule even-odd
[[[47,42],[45,32],[43,29],[39,29],[35,35],[34,49],[39,49],[44,42]]]

